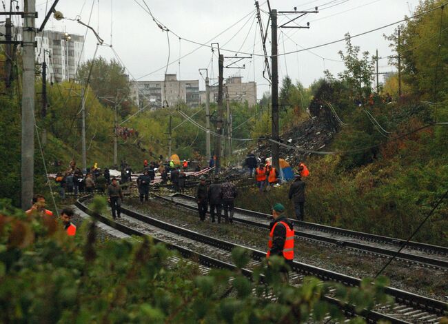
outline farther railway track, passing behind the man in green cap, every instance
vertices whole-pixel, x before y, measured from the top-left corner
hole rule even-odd
[[[194,197],[186,194],[173,194],[171,196],[155,194],[154,196],[189,210],[197,210]],[[260,228],[269,228],[270,216],[269,214],[236,207],[234,221]],[[344,230],[338,227],[296,221],[294,219],[290,220],[294,223],[296,236],[301,237],[301,239],[338,245],[339,247],[345,247],[358,252],[392,256],[396,254],[400,245],[405,244],[403,240],[393,239],[387,236]],[[448,270],[448,247],[411,241],[397,255],[397,259]]]

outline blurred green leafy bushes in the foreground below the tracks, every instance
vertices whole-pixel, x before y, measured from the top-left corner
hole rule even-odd
[[[92,208],[101,211],[105,201]],[[96,241],[95,223],[76,237],[54,219],[28,217],[0,202],[0,321],[3,323],[297,323],[329,313],[343,318],[323,301],[329,283],[306,278],[299,288],[281,282],[278,268],[254,270],[254,280],[240,270],[212,270],[201,276],[185,261],[172,264],[173,252],[149,238]],[[247,250],[232,252],[238,269],[250,260]],[[232,281],[230,279],[233,279]],[[384,278],[362,287],[337,287],[336,297],[356,303],[361,312],[389,303]],[[276,303],[264,298],[272,292]],[[363,323],[356,318],[353,323]]]

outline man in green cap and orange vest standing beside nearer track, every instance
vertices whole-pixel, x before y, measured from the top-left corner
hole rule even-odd
[[[269,224],[269,242],[267,243],[266,258],[269,259],[272,255],[283,256],[285,264],[292,267],[294,260],[294,229],[293,224],[283,214],[285,206],[281,203],[276,203],[272,207],[272,217],[274,221]],[[281,269],[281,276],[284,281],[287,281],[288,267]]]

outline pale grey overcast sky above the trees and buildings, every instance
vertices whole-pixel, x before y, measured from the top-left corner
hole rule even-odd
[[[48,2],[49,8],[53,1],[37,0],[38,26],[45,16],[46,3]],[[259,2],[261,9],[267,11],[266,2]],[[179,42],[179,38],[171,33],[168,51],[167,32],[163,32],[138,3],[144,7],[143,0],[60,0],[57,10],[66,18],[75,19],[79,16],[81,21],[88,23],[93,6],[90,26],[99,31],[105,43],[112,43],[115,52],[128,68],[131,79],[163,79],[169,53],[170,63],[174,63],[168,66],[167,72],[176,73],[181,79],[199,79],[201,90],[205,83],[198,73],[198,68],[209,68],[209,77],[217,77],[217,52],[213,55],[211,49],[205,46],[201,47],[185,40]],[[146,0],[146,3],[154,17],[182,39],[207,44],[218,42],[225,56],[233,56],[235,53],[225,52],[224,49],[263,54],[252,0]],[[307,14],[298,19],[301,26],[309,22],[309,29],[278,31],[278,52],[283,53],[341,39],[346,32],[354,35],[398,21],[405,15],[410,15],[418,0],[271,0],[270,3],[271,8],[279,11],[294,10],[294,6],[297,10],[313,10],[314,6],[318,6],[317,14]],[[289,16],[289,19],[293,17],[294,15]],[[266,26],[265,12],[262,12],[262,19],[263,25]],[[286,21],[287,17],[278,16],[279,25]],[[234,26],[230,28],[232,25]],[[371,54],[378,49],[380,57],[387,56],[391,51],[383,34],[390,34],[395,27],[352,39],[352,43],[360,45],[361,50],[367,50]],[[86,28],[76,21],[66,19],[56,21],[51,18],[46,28],[66,30],[72,34],[86,32]],[[229,29],[226,30],[227,28]],[[270,39],[270,30],[268,34]],[[278,57],[280,80],[289,74],[293,81],[301,81],[306,87],[322,77],[325,68],[337,74],[343,64],[331,60],[340,60],[338,50],[343,49],[344,45],[345,43],[340,42],[316,48],[312,52],[303,51]],[[89,30],[85,41],[86,60],[93,57],[95,48],[96,38]],[[270,51],[268,42],[268,54]],[[190,52],[192,53],[188,54]],[[188,54],[180,60],[180,64],[179,53],[181,57]],[[99,48],[97,56],[99,55],[108,59],[114,58],[110,47]],[[244,70],[225,69],[224,77],[241,75],[243,81],[256,81],[258,98],[261,98],[263,92],[269,90],[267,81],[263,79],[263,60],[263,57],[245,59]],[[230,59],[226,59],[225,65],[230,62]],[[391,70],[386,60],[380,61],[380,72]]]

